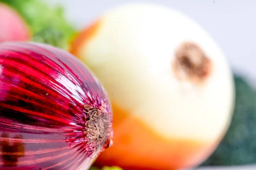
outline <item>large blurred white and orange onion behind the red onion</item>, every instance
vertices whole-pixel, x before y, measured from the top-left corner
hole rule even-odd
[[[234,85],[225,56],[177,11],[147,3],[117,7],[82,30],[70,52],[96,74],[113,106],[114,146],[96,165],[197,166],[230,125]]]

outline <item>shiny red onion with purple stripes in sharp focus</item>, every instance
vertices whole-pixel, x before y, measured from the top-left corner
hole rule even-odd
[[[0,169],[86,170],[111,145],[98,79],[50,45],[0,44]]]

